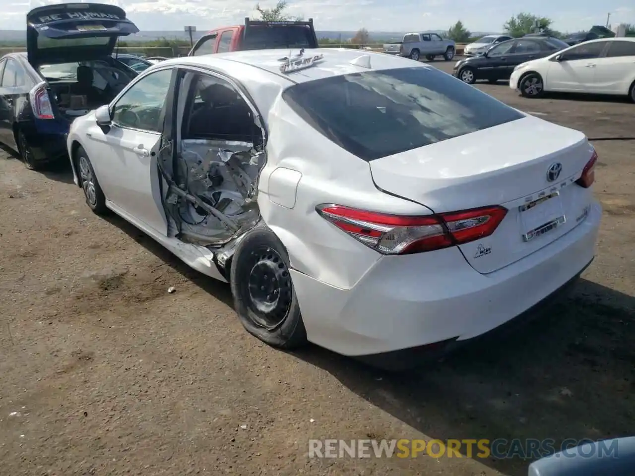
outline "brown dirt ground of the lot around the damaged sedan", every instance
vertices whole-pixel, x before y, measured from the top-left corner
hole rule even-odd
[[[515,476],[528,461],[309,459],[307,440],[634,434],[635,105],[478,88],[593,139],[598,255],[526,331],[407,376],[263,345],[228,286],[93,215],[69,168],[0,152],[0,475]]]

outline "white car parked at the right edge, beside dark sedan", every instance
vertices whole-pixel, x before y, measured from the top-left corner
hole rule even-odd
[[[635,38],[602,38],[522,63],[509,87],[528,98],[545,91],[628,96],[635,102]]]

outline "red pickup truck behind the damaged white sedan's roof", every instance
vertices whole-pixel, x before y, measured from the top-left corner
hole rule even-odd
[[[226,51],[318,48],[313,18],[308,22],[265,22],[244,19],[244,25],[211,30],[199,39],[188,56]]]

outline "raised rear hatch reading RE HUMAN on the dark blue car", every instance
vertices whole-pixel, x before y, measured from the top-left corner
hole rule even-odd
[[[95,60],[112,54],[117,37],[137,33],[126,12],[114,5],[62,3],[27,13],[27,56],[43,64]]]

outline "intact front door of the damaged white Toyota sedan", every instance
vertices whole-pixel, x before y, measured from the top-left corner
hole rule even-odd
[[[157,153],[175,76],[175,69],[161,69],[134,83],[111,107],[110,128],[91,128],[87,150],[106,198],[161,234],[167,233],[167,221]]]

